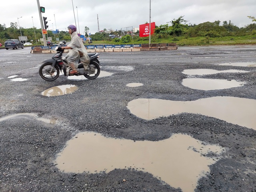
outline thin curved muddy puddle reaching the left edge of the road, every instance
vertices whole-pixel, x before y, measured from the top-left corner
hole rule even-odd
[[[5,120],[11,120],[11,119],[20,119],[20,118],[29,119],[29,120],[38,120],[38,121],[42,121],[42,122],[49,123],[49,124],[57,124],[58,123],[57,118],[38,117],[38,115],[35,113],[18,113],[18,114],[5,116],[5,117],[0,118],[0,122],[5,121]]]

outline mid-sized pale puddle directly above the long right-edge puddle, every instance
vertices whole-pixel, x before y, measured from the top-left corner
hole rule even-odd
[[[185,78],[182,85],[198,90],[218,90],[244,86],[244,82],[226,79]]]

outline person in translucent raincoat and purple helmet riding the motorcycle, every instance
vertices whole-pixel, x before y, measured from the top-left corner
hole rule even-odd
[[[71,36],[71,42],[68,46],[62,46],[62,49],[70,49],[68,54],[66,54],[66,60],[68,62],[68,66],[72,68],[72,71],[69,74],[78,73],[77,66],[79,59],[82,62],[84,69],[86,71],[89,70],[88,66],[90,64],[90,57],[87,54],[86,48],[82,43],[80,37],[76,33],[76,26],[70,25],[68,26],[68,33]]]

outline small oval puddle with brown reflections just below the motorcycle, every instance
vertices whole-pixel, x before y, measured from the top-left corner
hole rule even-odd
[[[66,95],[66,94],[73,93],[77,89],[78,88],[75,85],[60,85],[60,86],[55,86],[55,87],[51,87],[49,89],[46,89],[41,94],[43,96],[48,96],[48,97],[61,96],[61,95]]]

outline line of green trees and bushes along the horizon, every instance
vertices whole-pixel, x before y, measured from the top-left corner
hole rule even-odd
[[[252,22],[256,21],[256,19],[252,16],[248,16],[248,18],[252,19]],[[174,19],[170,22],[167,22],[166,24],[162,24],[160,26],[156,26],[154,30],[153,36],[155,38],[168,38],[170,36],[172,37],[178,37],[178,36],[184,36],[186,38],[192,38],[192,37],[210,37],[210,38],[216,38],[216,37],[225,37],[225,36],[246,36],[246,35],[255,35],[256,34],[256,24],[252,23],[247,26],[244,26],[242,28],[239,28],[235,26],[230,20],[229,22],[223,21],[220,22],[220,20],[217,20],[215,22],[204,22],[200,23],[198,25],[194,24],[187,24],[188,21],[184,20],[184,16],[180,16],[178,19]],[[87,28],[87,27],[86,27]],[[87,28],[89,29],[89,28]],[[33,40],[33,43],[35,44],[36,39],[42,38],[42,30],[36,29],[36,28],[18,28],[18,24],[11,23],[10,27],[6,27],[5,24],[0,24],[0,42],[3,44],[5,40],[7,39],[18,39],[18,36],[20,36],[20,30],[22,32],[22,36],[27,36],[28,42]],[[87,36],[86,30],[85,36]],[[52,37],[52,40],[55,41],[55,38],[59,38],[59,40],[70,40],[70,35],[67,31],[60,31],[57,34],[53,34],[52,31],[48,30],[49,37]],[[35,35],[36,34],[36,35]],[[110,33],[111,35],[121,36],[121,31],[113,31]],[[102,32],[102,33],[95,33],[92,34],[90,37],[93,40],[110,40],[110,37],[108,33]],[[135,33],[138,34],[138,31]],[[113,39],[117,41],[118,39]]]

